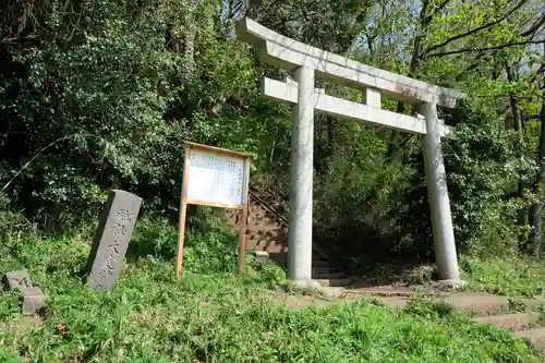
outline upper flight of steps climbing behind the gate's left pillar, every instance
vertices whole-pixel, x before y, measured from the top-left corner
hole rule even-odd
[[[235,234],[240,232],[240,210],[227,210],[227,221]],[[246,249],[267,252],[269,258],[280,266],[286,267],[288,264],[288,220],[256,193],[250,196]],[[322,286],[343,287],[351,282],[319,246],[313,245],[312,258],[312,278]]]

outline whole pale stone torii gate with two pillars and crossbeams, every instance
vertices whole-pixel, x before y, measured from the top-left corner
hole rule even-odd
[[[294,81],[265,77],[263,95],[293,104],[290,159],[288,277],[298,286],[312,281],[312,198],[314,110],[424,135],[423,152],[440,280],[459,283],[458,258],[447,191],[441,137],[451,129],[437,118],[437,106],[452,108],[463,94],[368,66],[282,36],[251,19],[237,22],[237,36],[259,49],[262,61],[292,71]],[[363,104],[314,88],[315,77],[363,90]],[[380,108],[380,96],[417,106],[422,118]]]

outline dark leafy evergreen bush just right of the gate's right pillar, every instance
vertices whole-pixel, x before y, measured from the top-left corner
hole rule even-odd
[[[520,204],[506,191],[516,190],[533,162],[520,156],[517,135],[499,128],[494,114],[474,106],[457,112],[464,123],[446,148],[446,159],[458,241],[477,253],[513,253],[522,232],[514,225]]]

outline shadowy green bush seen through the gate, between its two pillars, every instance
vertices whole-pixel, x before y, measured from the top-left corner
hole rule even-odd
[[[347,144],[335,145],[317,174],[314,194],[319,235],[329,235],[348,254],[350,250],[376,251],[376,239],[384,240],[382,249],[387,251],[391,247],[386,237],[392,231],[389,217],[396,208],[395,196],[405,185],[403,171],[385,162],[387,146],[374,130],[360,125],[340,130],[337,142],[347,140]],[[348,143],[354,134],[355,140]]]

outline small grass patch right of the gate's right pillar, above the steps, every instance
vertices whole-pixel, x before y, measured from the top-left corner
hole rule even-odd
[[[543,297],[545,263],[529,257],[463,257],[460,265],[468,289],[507,297]]]

